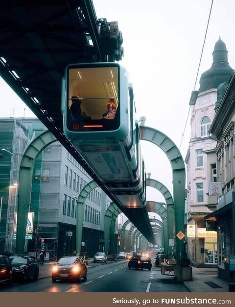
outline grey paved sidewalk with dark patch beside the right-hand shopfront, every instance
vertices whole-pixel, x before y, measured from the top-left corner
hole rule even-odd
[[[190,292],[229,292],[229,284],[217,277],[217,268],[192,267],[192,281],[184,281]]]

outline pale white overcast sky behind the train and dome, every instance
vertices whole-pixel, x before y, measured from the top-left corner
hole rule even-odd
[[[145,126],[164,132],[179,146],[188,114],[188,102],[208,21],[211,0],[93,0],[97,18],[118,21],[123,34],[121,63],[133,83],[138,116]],[[235,1],[214,0],[201,74],[211,67],[212,51],[219,35],[227,46],[230,66],[235,68]],[[0,116],[34,116],[16,94],[0,79]],[[5,103],[7,102],[7,103]],[[187,126],[181,153],[185,159],[190,127]],[[170,163],[153,144],[142,142],[146,172],[172,192]],[[148,188],[147,200],[163,201]]]

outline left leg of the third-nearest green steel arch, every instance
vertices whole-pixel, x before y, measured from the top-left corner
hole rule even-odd
[[[104,251],[108,255],[114,251],[115,224],[121,210],[114,203],[110,203],[104,215]]]

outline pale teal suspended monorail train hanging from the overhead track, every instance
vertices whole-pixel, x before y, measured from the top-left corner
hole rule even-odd
[[[128,74],[118,63],[72,64],[62,80],[64,133],[119,204],[146,203],[140,131]]]

